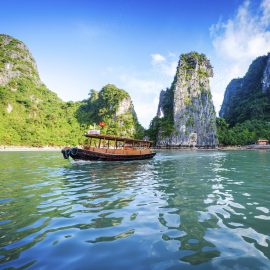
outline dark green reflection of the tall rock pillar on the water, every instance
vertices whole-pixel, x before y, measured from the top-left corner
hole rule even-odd
[[[200,154],[194,158],[193,153],[176,155],[173,161],[162,162],[161,166],[166,169],[159,174],[162,191],[167,194],[170,206],[159,215],[159,221],[167,227],[163,239],[179,241],[179,259],[195,265],[220,254],[215,245],[205,239],[206,230],[217,227],[217,219],[199,219],[199,213],[204,210],[204,194],[211,190],[211,186],[202,181],[202,176],[213,177],[213,172],[205,170],[207,164],[204,164],[203,156]],[[181,170],[175,170],[179,166]]]

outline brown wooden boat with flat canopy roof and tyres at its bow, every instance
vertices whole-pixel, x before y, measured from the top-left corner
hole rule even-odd
[[[74,160],[129,161],[149,159],[156,155],[150,150],[151,141],[100,134],[84,136],[88,138],[88,142],[83,148],[62,149],[65,159],[72,157]]]

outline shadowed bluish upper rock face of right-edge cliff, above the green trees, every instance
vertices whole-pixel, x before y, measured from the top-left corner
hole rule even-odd
[[[229,83],[219,115],[231,126],[270,120],[270,54],[255,59],[243,78]]]

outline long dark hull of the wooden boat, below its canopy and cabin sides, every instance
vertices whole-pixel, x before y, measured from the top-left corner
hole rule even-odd
[[[76,149],[75,151],[72,151]],[[65,151],[69,151],[68,155]],[[68,156],[74,160],[95,160],[95,161],[130,161],[130,160],[142,160],[153,158],[156,153],[144,154],[144,155],[115,155],[110,153],[99,153],[95,151],[71,148],[62,150],[64,158]]]

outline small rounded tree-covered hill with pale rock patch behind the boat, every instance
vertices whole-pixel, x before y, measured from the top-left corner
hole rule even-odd
[[[142,138],[144,129],[139,124],[128,93],[112,84],[100,92],[91,90],[88,100],[82,102],[77,119],[85,125],[105,122],[102,133]]]

